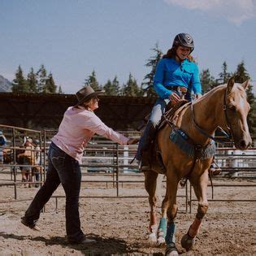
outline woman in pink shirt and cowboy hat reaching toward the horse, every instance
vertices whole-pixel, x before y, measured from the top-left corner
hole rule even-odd
[[[79,164],[85,146],[94,133],[121,145],[137,143],[137,139],[124,137],[107,127],[94,114],[93,111],[98,108],[98,94],[100,93],[102,91],[94,91],[90,86],[86,86],[76,93],[78,100],[76,106],[67,108],[59,125],[59,132],[52,138],[50,145],[46,182],[37,192],[24,217],[21,218],[21,223],[28,228],[39,230],[36,223],[41,209],[61,183],[66,194],[67,240],[78,244],[95,242],[95,240],[86,238],[82,232],[78,209],[81,181]]]

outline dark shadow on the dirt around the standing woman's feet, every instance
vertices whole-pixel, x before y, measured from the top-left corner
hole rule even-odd
[[[85,255],[111,255],[111,254],[131,254],[136,253],[137,249],[130,248],[124,240],[117,239],[115,237],[100,237],[93,234],[89,234],[89,239],[95,239],[96,244],[92,245],[74,245],[67,242],[67,239],[63,236],[53,236],[45,238],[43,236],[18,236],[15,234],[8,234],[6,232],[0,232],[0,237],[4,239],[15,239],[15,240],[30,240],[30,241],[41,241],[46,244],[46,246],[61,245],[63,248],[70,248],[80,251]]]

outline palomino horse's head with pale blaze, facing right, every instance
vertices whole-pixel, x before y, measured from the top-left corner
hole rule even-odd
[[[252,143],[247,124],[249,103],[245,90],[248,85],[249,80],[243,84],[235,84],[231,78],[228,80],[224,98],[226,121],[236,148],[239,150],[246,150]]]

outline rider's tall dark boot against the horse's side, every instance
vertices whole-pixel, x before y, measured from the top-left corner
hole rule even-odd
[[[136,157],[140,161],[140,170],[145,171],[150,169],[150,145],[154,141],[156,128],[151,121],[145,126],[143,134],[138,145]]]

